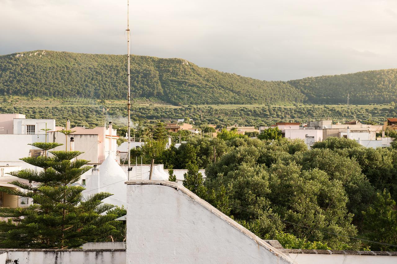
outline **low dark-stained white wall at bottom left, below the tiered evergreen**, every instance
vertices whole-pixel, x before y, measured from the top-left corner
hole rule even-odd
[[[18,264],[124,264],[123,249],[4,249],[8,260]],[[6,262],[0,262],[6,263]]]

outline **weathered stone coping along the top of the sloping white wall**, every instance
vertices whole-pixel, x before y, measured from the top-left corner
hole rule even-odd
[[[208,211],[210,211],[212,214],[216,215],[217,217],[221,218],[225,222],[227,222],[230,226],[233,226],[233,228],[237,229],[239,232],[243,233],[245,236],[251,238],[253,241],[255,241],[258,246],[264,247],[268,251],[270,251],[272,254],[282,258],[283,260],[289,262],[289,263],[294,263],[294,261],[285,253],[280,251],[279,249],[276,249],[275,247],[272,247],[272,245],[266,243],[264,240],[262,240],[260,237],[256,236],[253,234],[251,231],[248,229],[244,228],[234,220],[232,220],[230,217],[216,209],[214,206],[210,205],[210,203],[204,201],[203,199],[199,198],[196,194],[193,192],[189,191],[187,188],[184,186],[181,186],[180,184],[177,184],[176,182],[170,182],[167,180],[129,180],[125,182],[127,185],[146,185],[146,184],[154,184],[154,185],[163,185],[167,187],[174,188],[178,192],[182,192],[189,198],[191,198],[194,202],[198,203]]]

